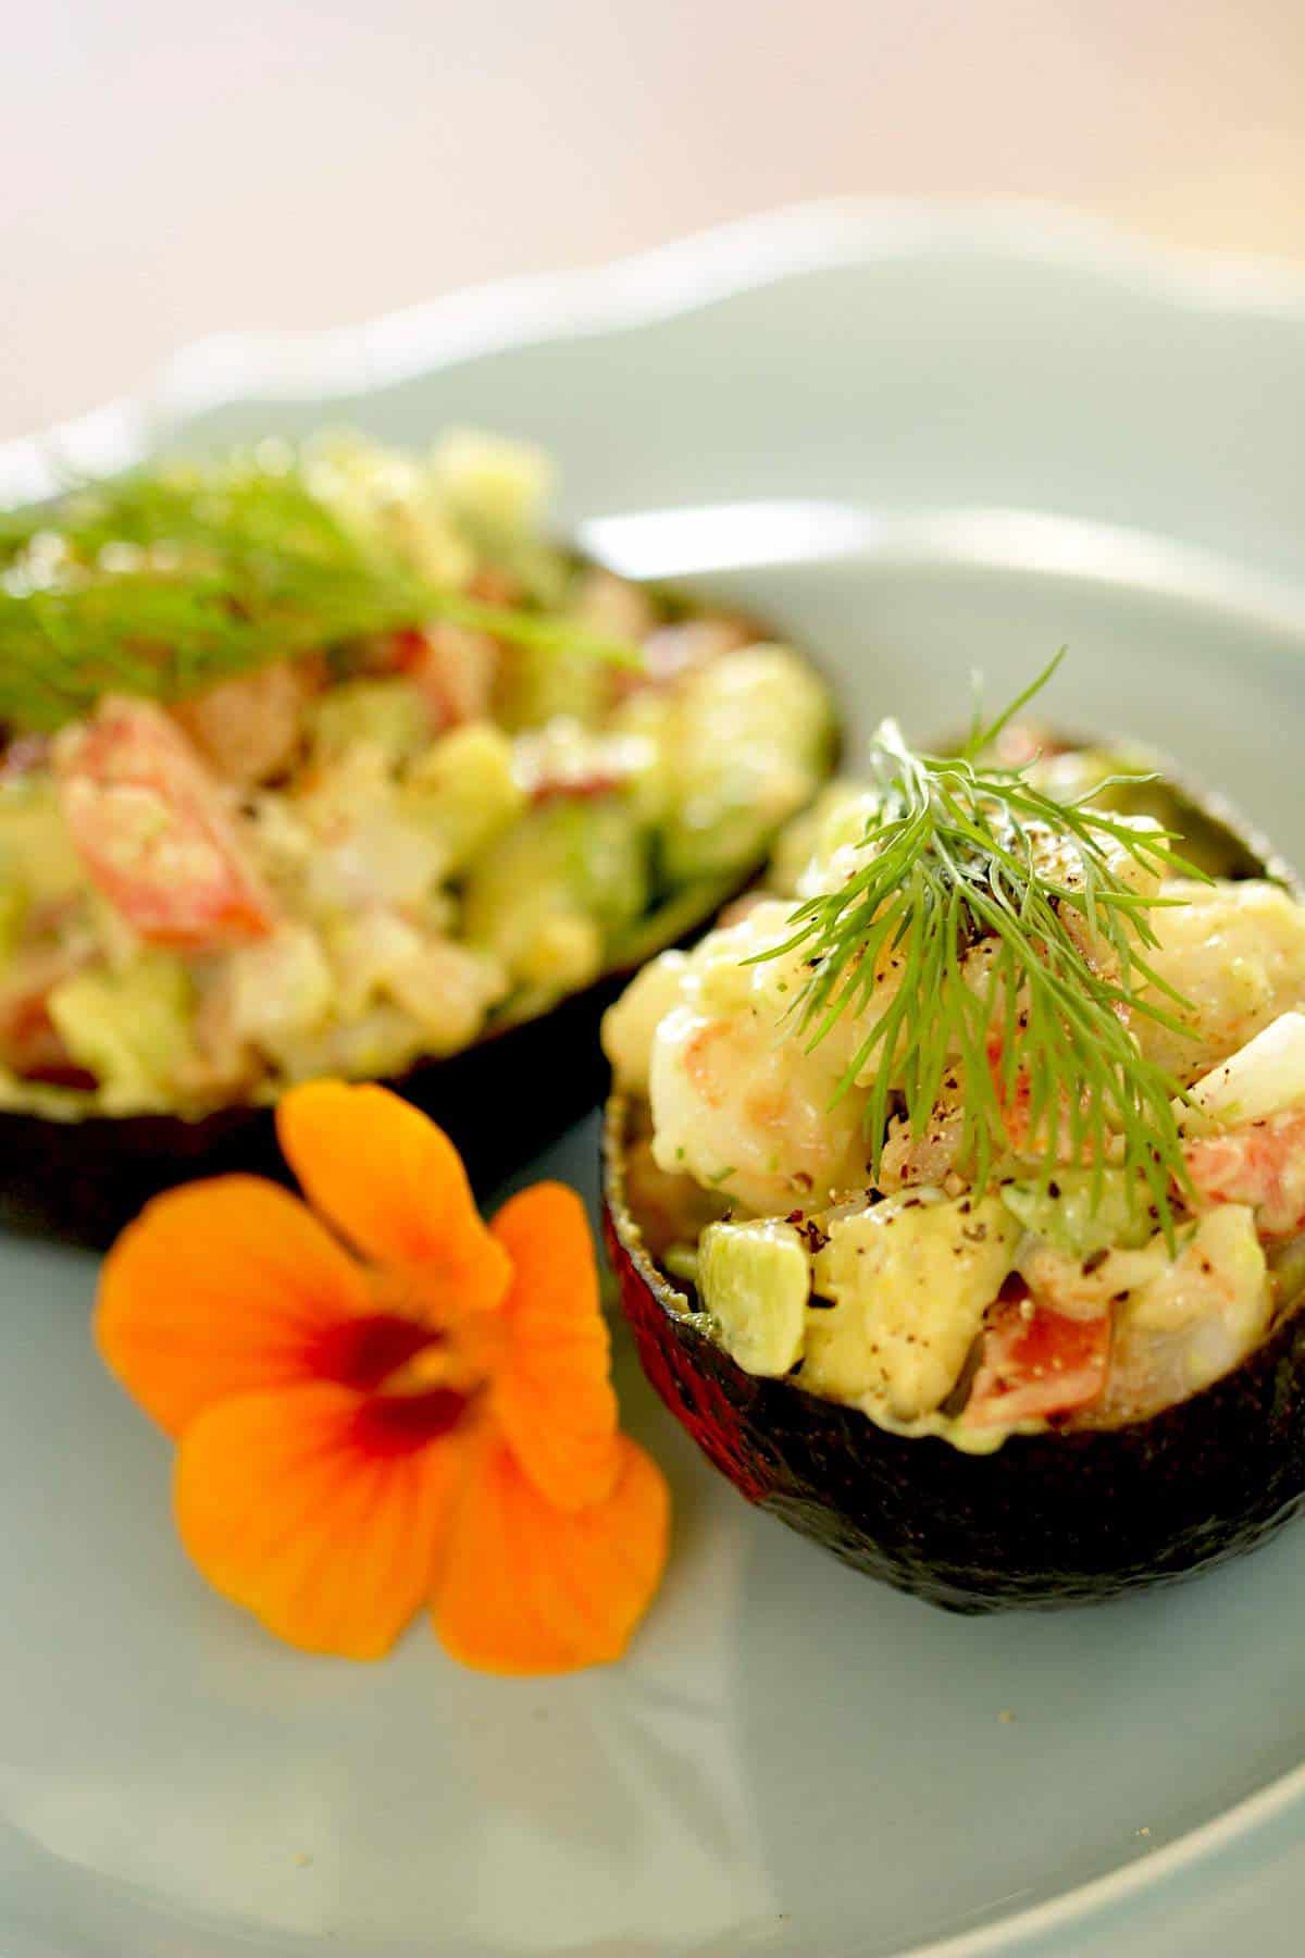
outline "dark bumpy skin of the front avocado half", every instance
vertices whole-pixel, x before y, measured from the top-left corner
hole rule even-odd
[[[759,1380],[675,1310],[624,1202],[608,1104],[607,1241],[648,1378],[749,1502],[949,1611],[1049,1609],[1166,1584],[1254,1549],[1305,1496],[1305,1312],[1147,1422],[1012,1435],[963,1455]],[[683,1298],[681,1298],[683,1308]]]

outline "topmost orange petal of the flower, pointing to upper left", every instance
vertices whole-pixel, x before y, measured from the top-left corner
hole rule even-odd
[[[309,1081],[276,1112],[282,1149],[309,1202],[378,1265],[417,1269],[442,1314],[503,1298],[507,1253],[479,1220],[444,1130],[380,1087]]]

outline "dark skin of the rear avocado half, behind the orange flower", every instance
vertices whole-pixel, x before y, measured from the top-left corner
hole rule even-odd
[[[487,1190],[607,1093],[599,1022],[628,983],[610,975],[536,1020],[503,1028],[385,1083],[452,1136]],[[49,1122],[0,1112],[0,1224],[108,1245],[160,1190],[229,1173],[288,1181],[270,1108]]]

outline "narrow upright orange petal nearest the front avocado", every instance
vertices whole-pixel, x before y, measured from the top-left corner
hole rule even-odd
[[[575,1190],[536,1183],[491,1228],[513,1261],[493,1408],[540,1496],[583,1510],[616,1480],[616,1394],[589,1218]]]

